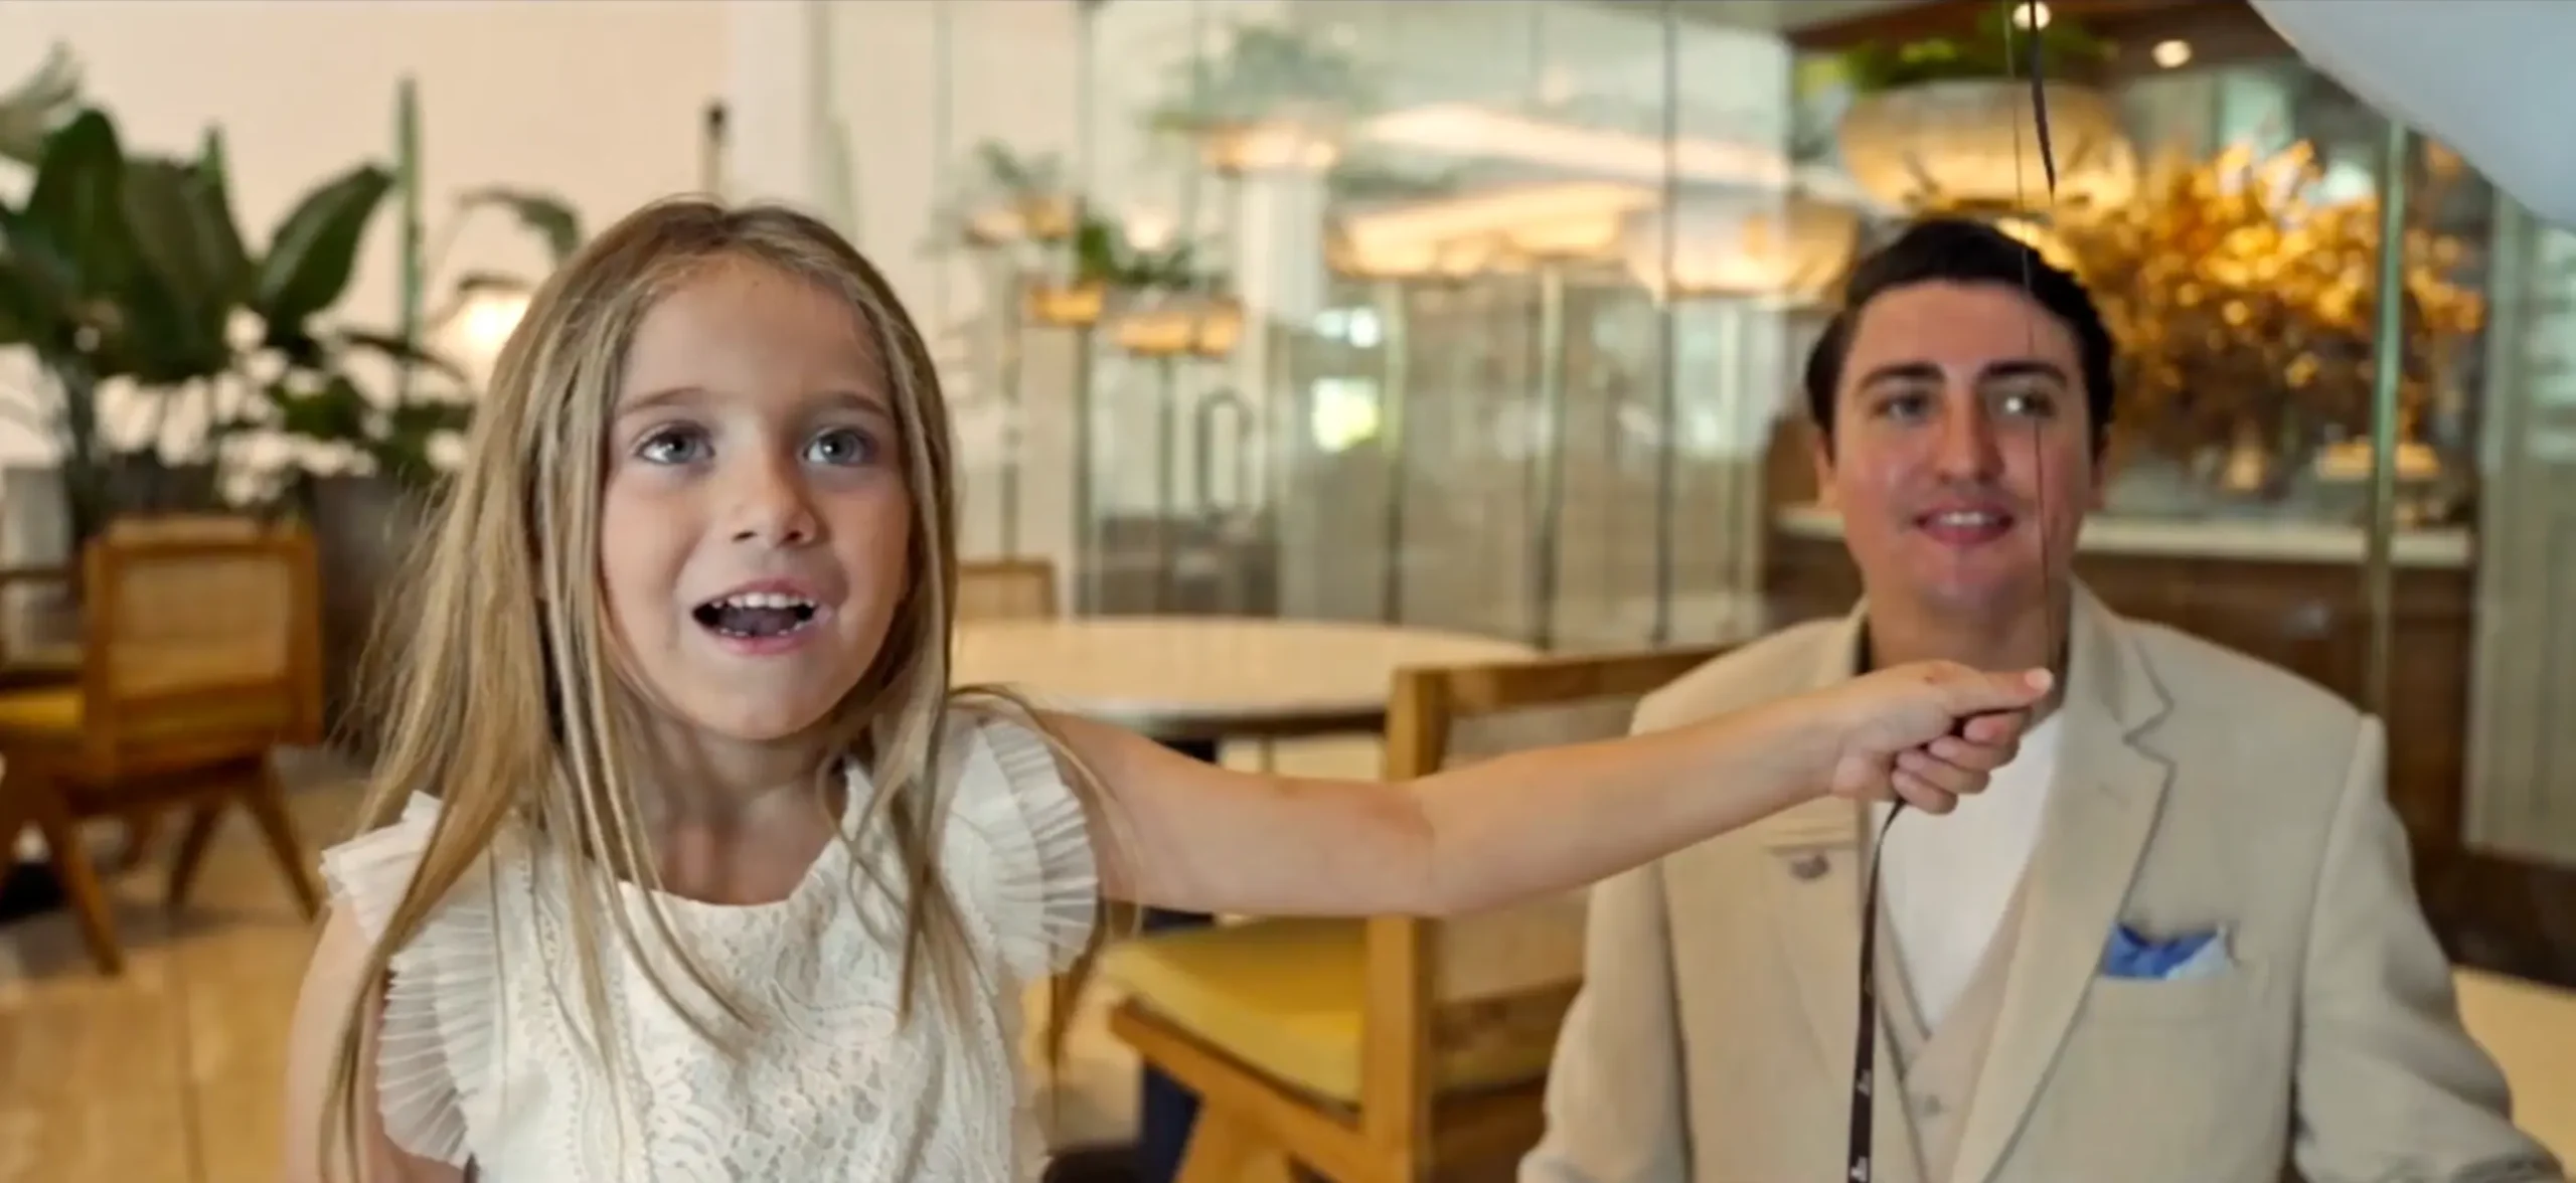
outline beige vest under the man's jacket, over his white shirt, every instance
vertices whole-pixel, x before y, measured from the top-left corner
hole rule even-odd
[[[1914,1124],[1914,1168],[1924,1183],[1947,1183],[1958,1170],[1958,1139],[1968,1126],[1968,1106],[1976,1103],[1976,1077],[1986,1070],[1994,1021],[2004,1010],[2004,974],[2020,936],[2022,892],[2014,889],[1994,925],[1994,941],[1986,941],[1986,956],[1937,1031],[1924,1026],[1922,1008],[1914,1005],[1896,941],[1878,941],[1878,979],[1886,982],[1878,1018],[1896,1059],[1899,1101]]]

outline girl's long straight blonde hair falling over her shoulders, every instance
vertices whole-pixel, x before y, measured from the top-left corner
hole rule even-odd
[[[842,296],[884,358],[914,510],[912,580],[881,652],[835,711],[837,750],[866,760],[873,784],[866,825],[886,825],[899,853],[896,869],[855,863],[902,892],[907,1013],[925,974],[943,990],[974,977],[956,899],[938,874],[930,799],[951,704],[956,588],[956,474],[930,351],[886,278],[827,224],[781,206],[652,204],[590,240],[536,294],[500,353],[469,459],[415,559],[412,603],[386,613],[402,637],[379,639],[379,652],[399,660],[384,662],[389,735],[361,830],[392,825],[412,794],[435,796],[440,809],[366,956],[366,990],[332,1070],[325,1162],[335,1160],[332,1131],[345,1139],[343,1155],[358,1152],[358,1106],[374,1103],[358,1095],[361,1023],[392,956],[505,832],[551,845],[567,856],[562,866],[587,861],[605,871],[569,876],[567,887],[595,1052],[618,1054],[598,938],[613,928],[629,948],[641,948],[616,879],[652,884],[654,861],[629,776],[644,706],[616,673],[598,580],[605,436],[636,325],[721,263],[757,263]],[[1074,773],[1090,784],[1079,763]],[[690,982],[739,1021],[739,1008],[680,948],[662,907],[647,912]],[[647,972],[654,964],[641,961]],[[659,974],[654,990],[675,997]],[[701,1031],[719,1034],[703,1021]]]

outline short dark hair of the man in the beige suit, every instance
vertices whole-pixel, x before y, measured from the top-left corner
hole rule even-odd
[[[1824,325],[1816,348],[1806,356],[1806,410],[1816,418],[1826,448],[1834,446],[1834,387],[1842,384],[1842,363],[1852,353],[1852,330],[1860,312],[1886,291],[1914,284],[2004,284],[2025,291],[2035,304],[2058,317],[2076,338],[2076,366],[2084,381],[2084,407],[2092,412],[2092,446],[2102,451],[2110,433],[2112,379],[2110,330],[2102,327],[2102,309],[2066,271],[2058,271],[2022,240],[1971,219],[1922,219],[1906,227],[1886,247],[1873,250],[1844,281],[1842,309]]]

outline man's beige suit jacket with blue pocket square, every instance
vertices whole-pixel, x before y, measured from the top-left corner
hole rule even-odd
[[[1914,1178],[1883,1090],[1873,1183],[2277,1183],[2293,1160],[2313,1183],[2561,1180],[2460,1028],[2378,719],[2076,601],[2061,771],[1955,1173]],[[1780,631],[1636,727],[1850,678],[1857,642],[1857,613]],[[1816,802],[1595,887],[1522,1183],[1842,1180],[1862,830]],[[2102,977],[2120,923],[2221,930],[2233,964]]]

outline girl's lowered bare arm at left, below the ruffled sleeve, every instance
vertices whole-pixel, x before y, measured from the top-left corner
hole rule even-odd
[[[464,1183],[464,1170],[446,1162],[404,1155],[376,1116],[376,1015],[381,992],[366,992],[368,941],[358,920],[335,907],[314,941],[312,967],[304,969],[304,990],[296,995],[296,1018],[286,1031],[286,1183]],[[340,1031],[348,1010],[366,995],[366,1018],[358,1041],[358,1175],[348,1175],[345,1157],[322,1160],[322,1124],[337,1121],[330,1106],[332,1067],[340,1054]],[[332,1147],[340,1131],[332,1129]]]

